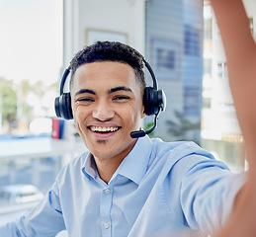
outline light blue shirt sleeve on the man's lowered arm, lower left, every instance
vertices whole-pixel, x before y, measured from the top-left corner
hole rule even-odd
[[[56,183],[39,205],[17,221],[0,227],[0,236],[48,237],[65,229]]]

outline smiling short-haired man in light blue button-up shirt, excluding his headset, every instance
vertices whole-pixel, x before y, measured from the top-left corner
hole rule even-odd
[[[72,59],[72,116],[88,152],[0,236],[207,236],[229,216],[244,174],[192,142],[131,138],[145,117],[143,58],[97,42]]]

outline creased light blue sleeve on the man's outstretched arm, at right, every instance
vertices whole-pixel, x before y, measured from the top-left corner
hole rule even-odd
[[[230,215],[246,173],[232,174],[220,161],[196,158],[199,161],[182,180],[181,204],[192,229],[212,234]]]

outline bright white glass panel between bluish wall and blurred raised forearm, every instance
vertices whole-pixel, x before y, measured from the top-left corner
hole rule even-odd
[[[204,1],[202,139],[204,148],[234,172],[245,169],[243,137],[228,84],[224,50],[211,2]],[[246,3],[245,3],[246,5]]]

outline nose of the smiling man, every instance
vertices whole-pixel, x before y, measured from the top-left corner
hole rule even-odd
[[[115,112],[111,105],[105,101],[98,102],[92,113],[93,118],[105,121],[114,118]]]

